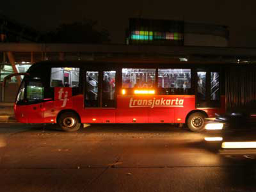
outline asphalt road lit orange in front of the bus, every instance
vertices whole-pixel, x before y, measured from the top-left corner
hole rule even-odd
[[[249,192],[252,158],[218,154],[205,133],[171,125],[0,124],[1,192]]]

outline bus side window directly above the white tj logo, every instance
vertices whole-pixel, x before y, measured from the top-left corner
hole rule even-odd
[[[52,67],[51,87],[79,87],[79,68]]]

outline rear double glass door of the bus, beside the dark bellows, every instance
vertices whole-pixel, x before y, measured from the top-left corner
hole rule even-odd
[[[220,73],[215,70],[198,69],[196,72],[196,77],[196,107],[220,107]]]

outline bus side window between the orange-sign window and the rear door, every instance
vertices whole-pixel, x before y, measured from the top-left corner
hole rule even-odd
[[[158,69],[158,89],[161,95],[189,94],[190,69]]]

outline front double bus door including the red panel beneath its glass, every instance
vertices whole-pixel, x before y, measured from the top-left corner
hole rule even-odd
[[[84,122],[115,122],[116,71],[85,71]]]

